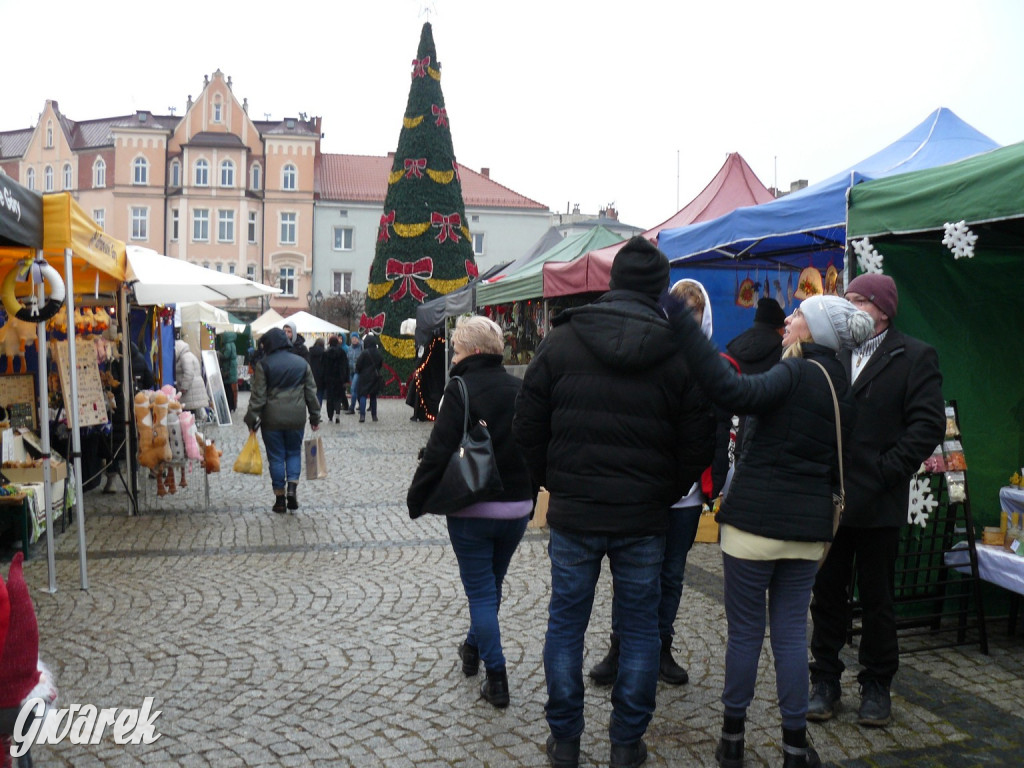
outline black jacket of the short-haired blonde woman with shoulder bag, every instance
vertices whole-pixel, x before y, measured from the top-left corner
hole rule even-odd
[[[452,375],[461,376],[466,382],[470,420],[482,419],[490,433],[495,460],[504,486],[495,501],[532,500],[536,488],[530,481],[522,452],[512,438],[512,414],[520,380],[506,373],[500,354],[470,355],[452,369]],[[459,382],[450,381],[444,389],[444,399],[437,414],[437,421],[434,422],[430,439],[423,451],[423,459],[406,496],[410,517],[419,517],[427,511],[423,509],[423,503],[444,474],[449,458],[459,447],[464,408]]]

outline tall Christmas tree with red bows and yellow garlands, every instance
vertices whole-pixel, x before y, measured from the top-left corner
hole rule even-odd
[[[425,24],[370,267],[367,311],[359,321],[360,332],[380,336],[384,394],[404,394],[416,365],[413,337],[399,333],[402,321],[416,317],[424,301],[462,288],[476,274],[441,66]]]

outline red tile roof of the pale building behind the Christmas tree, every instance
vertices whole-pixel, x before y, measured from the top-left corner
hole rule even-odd
[[[316,197],[319,200],[383,203],[393,162],[391,157],[322,155],[316,169]],[[543,203],[513,191],[461,163],[459,177],[467,207],[548,210]]]

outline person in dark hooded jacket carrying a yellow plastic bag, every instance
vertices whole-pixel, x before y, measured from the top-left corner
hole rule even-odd
[[[263,334],[259,346],[262,356],[253,367],[245,422],[251,433],[257,428],[263,433],[273,488],[271,510],[284,514],[286,507],[293,511],[299,508],[297,486],[302,473],[306,413],[315,432],[319,428],[319,403],[309,364],[292,352],[292,343],[282,329],[271,328]]]

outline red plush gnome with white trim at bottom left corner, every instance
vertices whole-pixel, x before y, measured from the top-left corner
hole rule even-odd
[[[0,581],[0,630],[3,653],[0,654],[0,712],[11,714],[11,722],[23,705],[40,698],[44,711],[57,699],[57,688],[46,665],[39,660],[39,624],[32,604],[29,586],[22,573],[25,555],[17,552],[10,562],[7,584]],[[7,712],[4,712],[7,711]],[[45,717],[45,715],[44,715]],[[0,736],[0,764],[9,765],[10,737]]]

